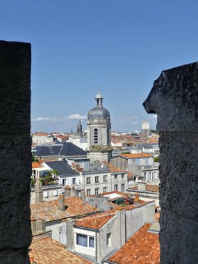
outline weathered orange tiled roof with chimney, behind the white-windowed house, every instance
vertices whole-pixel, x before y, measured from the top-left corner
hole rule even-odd
[[[76,215],[87,215],[88,213],[99,212],[99,209],[82,201],[79,197],[65,198],[65,211],[57,208],[55,201],[43,201],[38,204],[31,204],[31,217],[44,220],[46,222],[62,220]]]

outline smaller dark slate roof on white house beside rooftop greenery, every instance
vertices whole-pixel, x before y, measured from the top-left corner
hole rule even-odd
[[[68,174],[76,174],[79,175],[76,170],[73,170],[72,167],[67,163],[66,160],[60,161],[47,161],[45,162],[51,169],[57,170],[59,175],[68,175]]]

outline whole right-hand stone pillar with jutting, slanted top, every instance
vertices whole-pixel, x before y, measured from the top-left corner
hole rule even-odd
[[[160,263],[198,263],[198,63],[163,71],[144,106],[158,115]]]

